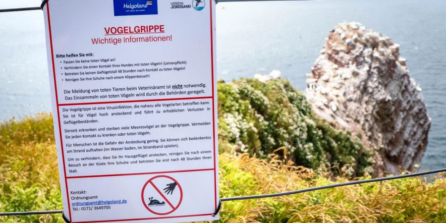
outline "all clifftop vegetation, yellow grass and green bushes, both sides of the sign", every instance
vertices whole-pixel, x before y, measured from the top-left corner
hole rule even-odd
[[[372,154],[357,141],[362,136],[316,118],[288,81],[241,79],[219,82],[218,88],[221,197],[370,177]],[[1,123],[0,212],[60,210],[59,187],[52,116]],[[446,179],[408,178],[224,202],[221,216],[224,223],[442,222]],[[63,221],[60,215],[42,215],[0,217],[0,222]]]

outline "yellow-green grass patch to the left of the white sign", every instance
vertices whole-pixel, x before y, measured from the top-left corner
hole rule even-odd
[[[53,118],[39,114],[0,126],[0,212],[59,210]],[[63,222],[59,216],[0,217],[0,222]]]

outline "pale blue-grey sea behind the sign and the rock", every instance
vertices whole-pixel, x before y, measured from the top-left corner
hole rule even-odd
[[[0,8],[40,0],[1,1]],[[446,167],[446,1],[310,0],[217,4],[218,78],[280,70],[300,90],[324,38],[357,21],[401,45],[432,118],[421,169]],[[0,120],[51,110],[42,11],[0,14]]]

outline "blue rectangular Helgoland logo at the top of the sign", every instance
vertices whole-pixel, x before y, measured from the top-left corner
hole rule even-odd
[[[114,16],[120,15],[156,15],[157,0],[113,0]]]

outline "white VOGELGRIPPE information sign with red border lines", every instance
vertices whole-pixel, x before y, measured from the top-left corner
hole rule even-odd
[[[213,0],[49,0],[63,211],[73,223],[218,220]]]

